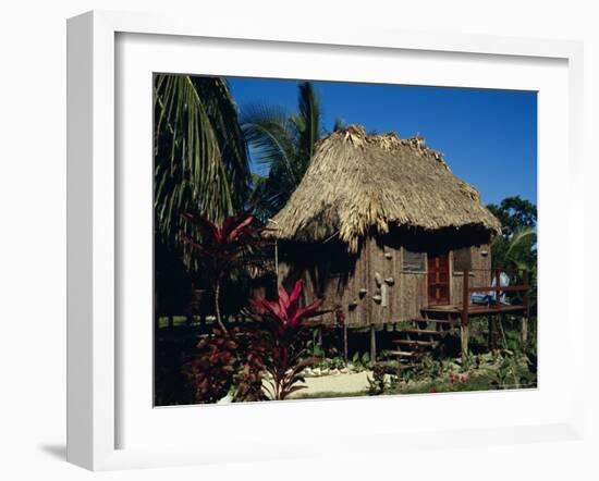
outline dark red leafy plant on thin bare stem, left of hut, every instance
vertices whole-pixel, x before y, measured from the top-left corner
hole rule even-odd
[[[197,254],[206,274],[212,281],[217,322],[222,332],[228,334],[220,312],[221,284],[235,269],[250,264],[248,251],[267,242],[260,236],[265,227],[252,225],[254,217],[247,213],[229,217],[222,223],[191,213],[183,218],[194,224],[198,232],[199,239],[185,237],[183,240]]]

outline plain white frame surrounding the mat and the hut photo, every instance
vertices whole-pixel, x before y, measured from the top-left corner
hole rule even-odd
[[[120,384],[118,356],[123,348],[118,326],[118,264],[120,250],[118,188],[120,182],[117,169],[115,91],[117,54],[115,39],[119,35],[160,35],[175,39],[235,39],[293,44],[297,48],[311,46],[337,46],[339,48],[367,48],[368,51],[409,51],[414,55],[425,52],[464,53],[469,55],[510,57],[525,64],[528,59],[553,59],[566,62],[567,69],[567,140],[564,169],[571,187],[570,202],[565,207],[569,218],[567,238],[567,299],[575,295],[573,280],[582,279],[583,206],[582,192],[572,188],[579,180],[583,163],[582,118],[583,118],[583,46],[575,41],[535,40],[491,36],[465,36],[454,34],[423,34],[377,28],[343,29],[302,25],[297,28],[276,25],[259,27],[248,24],[231,24],[224,20],[210,18],[198,25],[195,20],[170,17],[157,14],[121,13],[95,11],[69,20],[68,23],[68,460],[91,470],[124,469],[184,464],[225,462],[230,455],[223,442],[217,440],[210,449],[206,446],[172,445],[120,447],[119,427],[124,422],[119,409],[123,386]],[[198,72],[199,73],[199,72]],[[539,113],[539,124],[542,115]],[[542,128],[542,126],[541,126]],[[542,144],[541,144],[542,147]],[[542,155],[542,151],[541,151]],[[542,177],[539,182],[543,182]],[[542,202],[542,200],[541,200]],[[542,207],[540,208],[542,212]],[[540,222],[540,230],[543,224]],[[540,234],[542,239],[542,232]],[[542,240],[541,240],[542,242]],[[542,271],[541,271],[542,275]],[[541,278],[542,279],[542,278]],[[540,303],[542,288],[540,284]],[[550,298],[549,296],[546,298]],[[584,313],[582,305],[566,303],[567,322],[564,337],[574,337],[583,332]],[[565,311],[564,311],[565,312]],[[150,324],[151,325],[151,321]],[[543,348],[542,346],[540,347]],[[551,353],[542,355],[551,356]],[[467,425],[464,429],[426,429],[411,431],[409,436],[393,424],[388,431],[376,431],[369,435],[365,447],[353,447],[352,440],[359,436],[341,434],[323,436],[318,442],[296,442],[281,437],[269,440],[268,432],[257,434],[253,451],[235,452],[235,459],[277,459],[284,457],[320,455],[331,451],[335,440],[343,451],[365,449],[370,452],[398,452],[407,447],[432,448],[451,442],[455,445],[506,444],[534,442],[547,439],[573,440],[583,435],[582,369],[584,353],[569,353],[573,369],[572,382],[564,384],[569,409],[560,416],[543,422],[525,422],[503,427]],[[579,374],[578,374],[579,373]],[[542,385],[540,387],[542,390]],[[412,397],[412,399],[415,399]],[[419,399],[425,399],[420,397]],[[469,399],[469,400],[468,400]],[[450,396],[437,399],[448,408]],[[368,409],[370,399],[354,399],[360,409]],[[476,399],[463,397],[463,403]],[[327,403],[292,403],[296,414],[308,416],[316,409],[329,409]],[[384,403],[384,406],[382,405]],[[383,399],[377,406],[390,409],[396,398]],[[419,400],[418,403],[428,403]],[[243,409],[254,409],[253,416],[286,416],[280,403],[252,408],[231,406],[235,418],[244,421]],[[303,406],[305,407],[303,407]],[[354,404],[354,406],[356,406]],[[181,408],[179,410],[182,410]],[[221,409],[222,407],[218,407]],[[291,409],[291,408],[289,408]],[[304,414],[302,415],[302,410]],[[567,410],[567,412],[566,412]],[[174,410],[171,410],[174,411]],[[277,414],[274,414],[277,411]],[[231,411],[233,412],[233,411]],[[332,412],[332,411],[331,411]],[[563,416],[562,416],[563,415]],[[333,420],[334,421],[334,420]],[[333,422],[331,421],[331,422]],[[367,428],[365,428],[367,429]],[[395,430],[396,431],[393,431]],[[284,435],[284,434],[283,434]],[[288,437],[291,434],[286,434]],[[258,449],[259,447],[261,449]],[[259,452],[259,453],[258,453]],[[357,451],[356,451],[357,453]]]

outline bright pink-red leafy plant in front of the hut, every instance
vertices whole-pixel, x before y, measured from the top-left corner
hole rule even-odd
[[[290,394],[303,388],[302,372],[313,363],[305,358],[309,333],[303,321],[318,316],[322,304],[319,299],[308,306],[300,307],[302,280],[295,283],[291,294],[279,286],[279,299],[253,299],[252,306],[264,321],[262,345],[266,347],[264,368],[270,374],[269,387],[266,387],[272,399],[283,400]]]

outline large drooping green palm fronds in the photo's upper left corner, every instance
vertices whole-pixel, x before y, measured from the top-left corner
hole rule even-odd
[[[155,77],[155,219],[161,238],[180,247],[195,212],[222,221],[244,207],[249,162],[227,81]]]

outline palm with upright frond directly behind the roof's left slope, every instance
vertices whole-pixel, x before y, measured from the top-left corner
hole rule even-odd
[[[278,212],[295,190],[308,168],[315,144],[322,137],[322,113],[318,95],[309,82],[298,85],[297,112],[252,106],[243,109],[242,130],[257,163],[267,175],[254,175],[250,202],[267,220]]]

